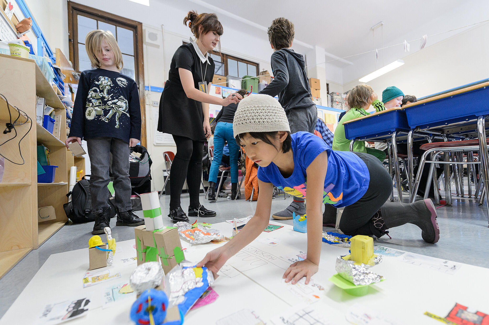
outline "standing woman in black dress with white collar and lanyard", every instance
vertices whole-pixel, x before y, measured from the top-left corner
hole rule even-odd
[[[195,36],[175,52],[168,80],[161,94],[158,131],[173,135],[177,154],[170,177],[170,214],[174,223],[188,221],[180,206],[180,195],[187,179],[190,217],[214,217],[216,212],[200,204],[200,180],[204,142],[211,136],[209,103],[227,106],[239,102],[239,94],[222,99],[208,94],[214,77],[214,61],[207,54],[219,43],[222,25],[216,14],[189,11],[183,20]]]

